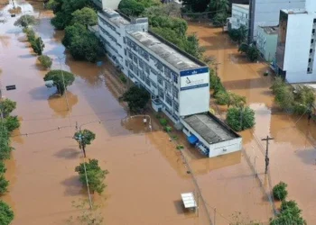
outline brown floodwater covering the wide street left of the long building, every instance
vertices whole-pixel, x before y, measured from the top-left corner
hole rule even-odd
[[[73,61],[60,44],[62,32],[52,30],[51,14],[42,10],[42,4],[17,4],[39,18],[35,30],[45,43],[44,54],[65,56],[61,67],[73,72],[76,80],[67,92],[69,107],[65,97],[51,97],[55,90],[42,80],[47,71],[14,27],[16,18],[7,17],[7,23],[0,24],[1,82],[16,85],[4,95],[17,102],[14,113],[22,121],[14,132],[13,157],[6,161],[10,192],[2,196],[14,209],[13,224],[66,224],[79,214],[71,202],[87,199],[87,193],[74,172],[82,162],[71,139],[76,121],[88,123],[82,128],[96,133],[88,157],[97,158],[109,171],[106,192],[93,199],[101,206],[105,224],[207,224],[205,211],[196,217],[181,207],[180,194],[194,186],[166,134],[156,125],[148,133],[140,121],[122,122],[127,114],[104,76],[111,73],[107,60],[101,67]],[[5,6],[5,12],[8,9]],[[53,68],[60,68],[59,60],[53,60]]]

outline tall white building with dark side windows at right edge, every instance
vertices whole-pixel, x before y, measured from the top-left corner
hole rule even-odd
[[[289,83],[316,82],[316,4],[300,10],[282,10],[276,49],[278,74]]]

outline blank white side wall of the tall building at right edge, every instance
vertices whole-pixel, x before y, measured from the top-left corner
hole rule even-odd
[[[283,70],[286,71],[286,79],[290,83],[309,82],[313,76],[315,77],[307,73],[309,58],[311,58],[313,19],[313,14],[288,15]],[[315,73],[314,69],[313,73]]]

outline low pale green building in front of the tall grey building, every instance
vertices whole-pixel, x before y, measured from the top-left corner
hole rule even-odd
[[[278,27],[258,27],[256,37],[256,48],[266,61],[273,61],[275,58]]]

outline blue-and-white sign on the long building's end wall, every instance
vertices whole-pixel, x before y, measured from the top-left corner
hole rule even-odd
[[[209,86],[209,73],[181,76],[181,91]]]

